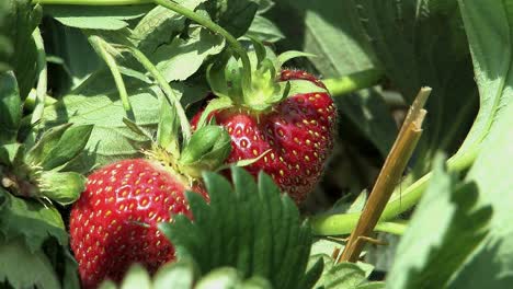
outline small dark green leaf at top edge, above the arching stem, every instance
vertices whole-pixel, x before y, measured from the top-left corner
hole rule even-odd
[[[219,0],[205,5],[212,19],[235,37],[248,31],[259,9],[255,0]]]

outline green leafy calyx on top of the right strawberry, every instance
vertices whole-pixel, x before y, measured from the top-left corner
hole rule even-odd
[[[244,77],[248,70],[244,70],[242,62],[231,57],[229,51],[208,67],[207,80],[212,91],[218,97],[231,100],[231,106],[255,114],[265,113],[292,95],[327,92],[310,81],[280,81],[283,63],[300,56],[310,55],[300,51],[286,51],[276,56],[271,49],[258,41],[253,41],[253,49],[248,54],[251,62],[249,72],[251,81],[249,83],[244,82],[248,79]]]

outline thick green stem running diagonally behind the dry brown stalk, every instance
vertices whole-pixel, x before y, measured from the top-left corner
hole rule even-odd
[[[447,161],[448,171],[463,172],[467,170],[474,163],[479,148],[475,147],[465,153],[455,154]],[[399,188],[396,188],[397,192],[395,192],[394,195],[399,197],[394,198],[387,204],[379,221],[383,222],[395,219],[417,205],[422,197],[422,193],[425,190],[430,178],[431,173],[428,173],[406,188],[402,193],[399,192]],[[316,235],[343,235],[349,234],[354,230],[360,216],[360,212],[318,216],[310,219],[310,224]]]

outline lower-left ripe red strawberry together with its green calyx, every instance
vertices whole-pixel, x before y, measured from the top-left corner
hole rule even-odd
[[[175,116],[163,102],[149,159],[107,164],[88,177],[69,224],[86,288],[96,288],[106,278],[119,281],[134,263],[153,273],[172,261],[174,248],[157,224],[178,213],[191,217],[186,189],[208,197],[201,173],[223,164],[231,150],[230,137],[219,126],[205,126],[192,137],[184,134],[180,146]]]

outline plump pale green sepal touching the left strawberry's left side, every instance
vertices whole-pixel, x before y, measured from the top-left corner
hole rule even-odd
[[[66,206],[75,203],[86,189],[86,177],[73,172],[43,172],[39,186],[45,197]]]

